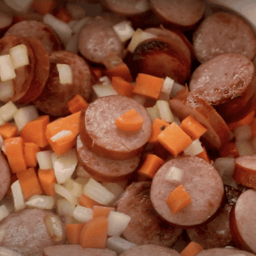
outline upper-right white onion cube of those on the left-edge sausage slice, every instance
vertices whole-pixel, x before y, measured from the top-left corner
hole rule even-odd
[[[29,64],[27,48],[25,44],[19,44],[9,49],[9,55],[13,62],[14,68],[24,67]]]

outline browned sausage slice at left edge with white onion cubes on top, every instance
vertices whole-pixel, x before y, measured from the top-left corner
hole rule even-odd
[[[33,73],[34,73],[34,54],[32,47],[26,41],[26,38],[20,38],[16,36],[5,36],[0,40],[0,55],[9,55],[9,49],[12,47],[25,44],[27,49],[27,55],[29,59],[29,64],[24,67],[18,67],[15,69],[16,77],[12,79],[14,87],[14,96],[10,99],[7,99],[5,102],[17,102],[22,96],[26,94],[26,91],[29,89]]]

